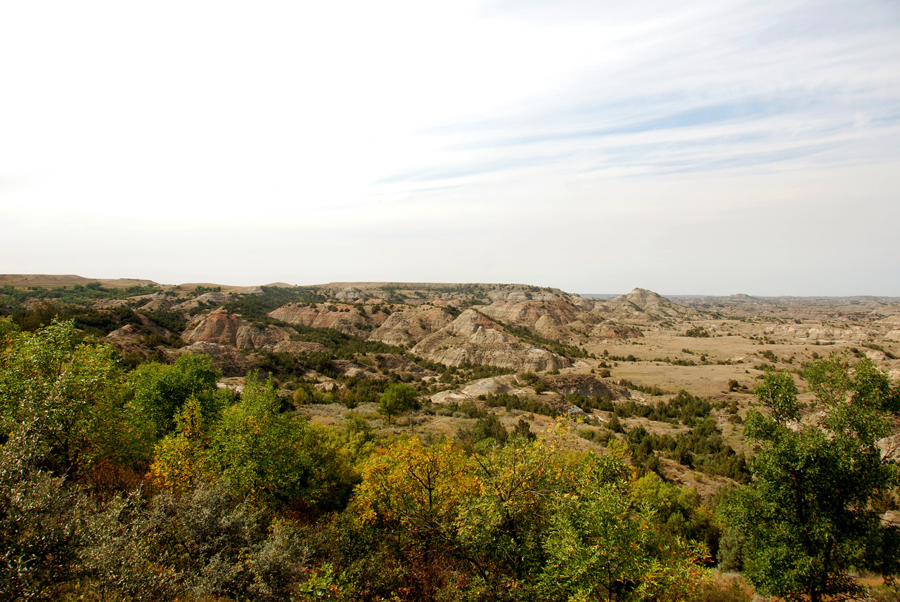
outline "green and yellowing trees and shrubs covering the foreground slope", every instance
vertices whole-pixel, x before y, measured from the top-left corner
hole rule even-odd
[[[266,289],[242,307],[262,319],[281,296],[308,292]],[[172,314],[147,317],[173,331]],[[526,414],[508,429],[494,408],[554,411],[513,394],[423,405],[431,386],[452,384],[387,359],[445,381],[497,368],[296,330],[328,351],[262,354],[238,394],[219,388],[208,356],[128,369],[75,320],[31,329],[0,317],[0,602],[749,599],[711,579],[716,565],[763,595],[818,602],[865,594],[860,571],[898,571],[900,534],[879,511],[900,474],[878,441],[900,391],[867,359],[806,366],[808,411],[793,376],[766,373],[747,418],[760,452],[748,459],[712,418],[725,407],[688,392],[653,404],[572,395],[607,412],[609,428],[535,429]],[[342,376],[347,360],[382,377]],[[311,369],[335,386],[304,380]],[[469,426],[397,435],[371,414],[331,427],[298,411],[337,402],[376,404],[390,424],[423,412]],[[635,417],[679,430],[619,421]],[[585,450],[587,432],[606,448]],[[661,458],[731,484],[707,507],[662,477]]]

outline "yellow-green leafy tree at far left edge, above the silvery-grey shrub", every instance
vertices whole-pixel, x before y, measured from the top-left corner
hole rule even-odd
[[[41,468],[73,480],[100,462],[148,456],[147,429],[122,402],[124,378],[109,345],[81,342],[71,321],[36,332],[0,323],[0,427],[33,432]]]

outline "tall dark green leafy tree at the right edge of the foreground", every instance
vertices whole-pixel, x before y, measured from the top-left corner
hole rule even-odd
[[[833,354],[803,374],[815,402],[802,421],[793,376],[767,373],[755,389],[769,412],[748,413],[746,435],[761,449],[725,539],[743,542],[744,576],[762,595],[819,602],[859,595],[851,571],[897,572],[900,534],[870,501],[898,482],[896,455],[878,442],[900,394],[868,359],[851,367]]]

